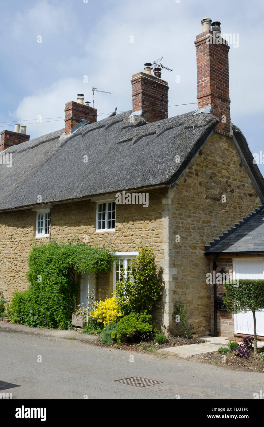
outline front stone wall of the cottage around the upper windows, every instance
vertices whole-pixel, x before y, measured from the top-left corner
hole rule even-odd
[[[116,205],[116,230],[96,232],[96,202],[84,200],[53,205],[50,210],[51,234],[35,238],[36,212],[31,209],[0,213],[0,287],[10,301],[17,288],[25,290],[27,260],[34,243],[48,243],[49,238],[68,242],[74,237],[89,245],[105,246],[116,252],[135,252],[147,243],[160,264],[164,257],[162,198],[165,189],[148,191],[149,205]],[[41,206],[40,208],[43,208]],[[97,279],[99,300],[113,292],[113,271],[100,273]]]

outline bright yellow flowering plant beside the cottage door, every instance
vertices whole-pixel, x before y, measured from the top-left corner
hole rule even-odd
[[[91,312],[90,318],[96,319],[97,322],[104,324],[116,323],[119,317],[122,317],[116,301],[116,297],[106,298],[105,301],[95,303],[95,309]]]

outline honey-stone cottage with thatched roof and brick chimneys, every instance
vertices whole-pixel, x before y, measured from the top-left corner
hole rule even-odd
[[[230,121],[229,46],[220,23],[204,18],[195,46],[196,111],[168,118],[168,83],[160,68],[153,75],[145,64],[132,76],[130,111],[97,122],[96,109],[79,94],[78,102],[65,105],[64,129],[33,140],[19,125],[1,132],[0,287],[6,298],[28,287],[35,242],[78,237],[116,250],[119,261],[109,274],[77,278],[78,302],[85,306],[114,292],[142,242],[163,269],[155,316],[164,330],[175,331],[174,305],[181,301],[192,316],[191,332],[223,333],[224,319],[216,330],[214,319],[211,325],[217,295],[212,298],[206,274],[223,263],[229,269],[232,256],[221,255],[213,266],[210,242],[264,202],[264,180]]]

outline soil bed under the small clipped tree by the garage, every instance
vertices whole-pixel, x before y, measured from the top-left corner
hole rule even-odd
[[[221,368],[233,369],[236,371],[264,372],[264,362],[258,360],[253,354],[248,359],[235,356],[235,354],[225,354],[225,362],[222,362],[222,354],[218,351],[190,356],[187,360],[198,363],[208,363],[220,366]]]

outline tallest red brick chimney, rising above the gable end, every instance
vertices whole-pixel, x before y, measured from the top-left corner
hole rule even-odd
[[[212,106],[220,123],[216,130],[224,135],[230,133],[229,99],[229,45],[220,37],[220,22],[203,18],[202,32],[194,42],[197,53],[197,99],[198,107]],[[212,29],[211,29],[212,23]]]

